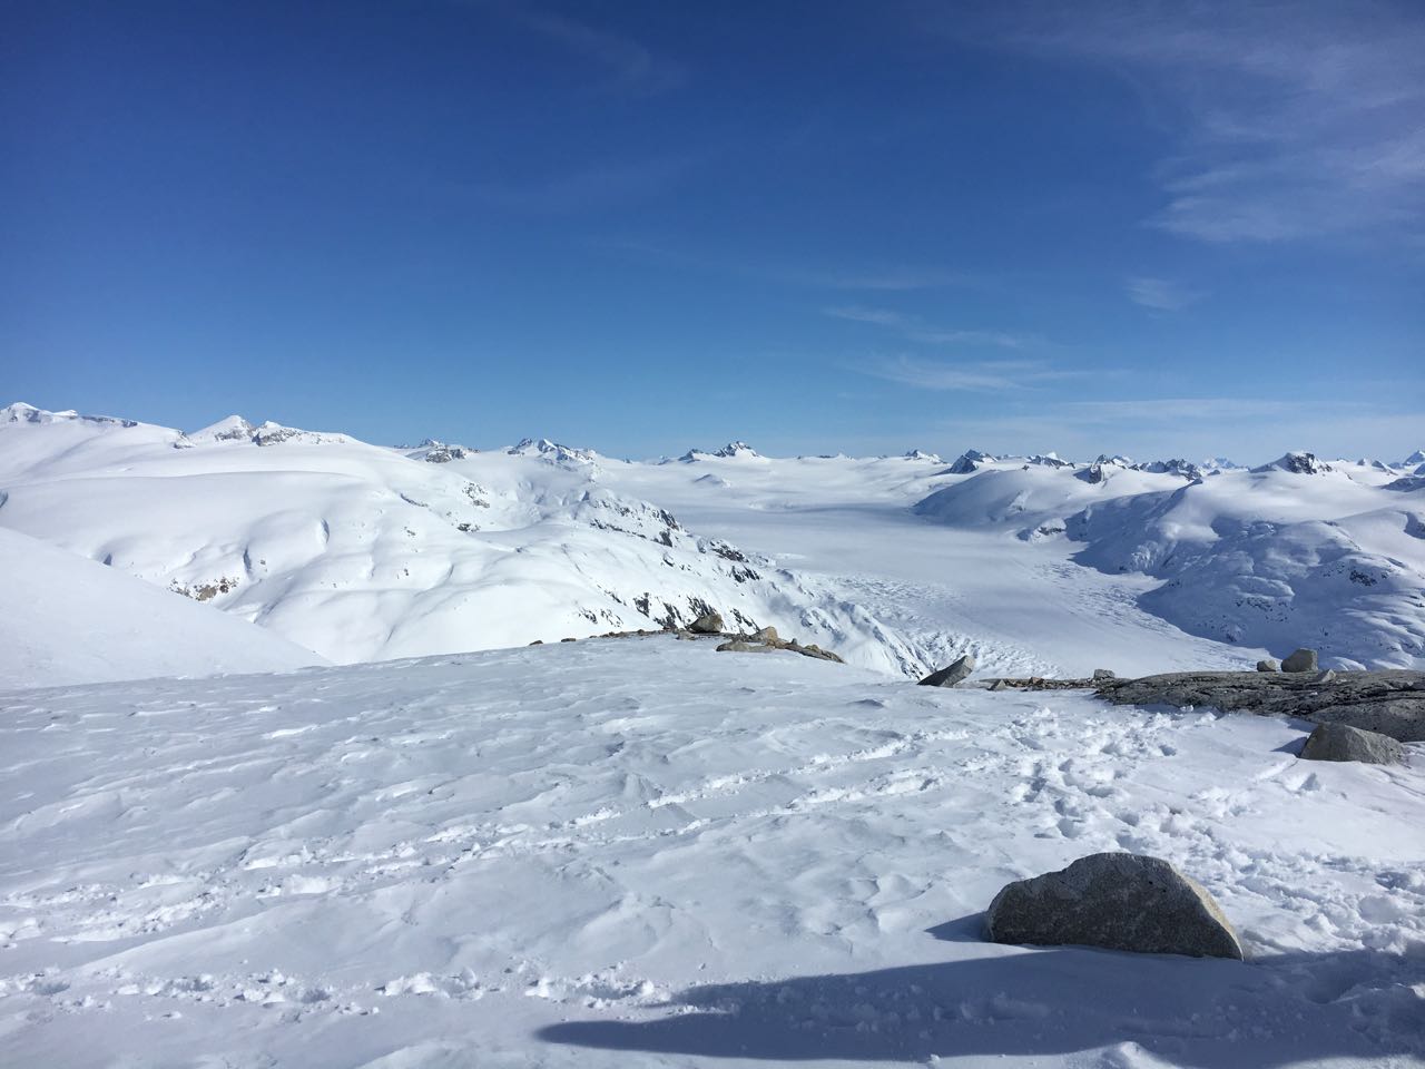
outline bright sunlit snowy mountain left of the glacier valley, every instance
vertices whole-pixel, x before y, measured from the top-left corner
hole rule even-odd
[[[923,668],[862,607],[616,493],[591,459],[529,442],[425,462],[237,416],[184,435],[46,413],[0,419],[0,525],[342,663],[657,629],[711,606],[731,629]]]

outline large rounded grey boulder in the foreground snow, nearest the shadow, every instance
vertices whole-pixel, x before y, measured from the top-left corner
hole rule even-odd
[[[985,914],[985,938],[1243,959],[1237,932],[1213,897],[1143,854],[1090,854],[1059,872],[1009,884]]]

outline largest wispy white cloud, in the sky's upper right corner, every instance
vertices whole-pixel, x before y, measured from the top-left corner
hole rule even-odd
[[[1421,4],[1006,10],[989,40],[1119,70],[1167,104],[1178,148],[1156,174],[1166,202],[1150,225],[1208,242],[1421,239]]]

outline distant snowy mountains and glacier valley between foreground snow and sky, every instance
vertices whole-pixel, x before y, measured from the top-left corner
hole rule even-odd
[[[684,460],[11,406],[0,526],[343,663],[704,607],[903,674],[965,651],[990,673],[1226,667],[1300,644],[1425,663],[1425,495],[1387,466],[968,450],[945,468],[735,440]]]

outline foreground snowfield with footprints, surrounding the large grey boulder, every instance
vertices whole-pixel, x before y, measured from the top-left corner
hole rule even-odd
[[[667,637],[0,696],[10,1065],[1418,1065],[1425,753]],[[998,946],[1156,854],[1247,964]]]

